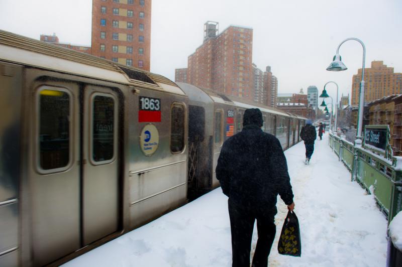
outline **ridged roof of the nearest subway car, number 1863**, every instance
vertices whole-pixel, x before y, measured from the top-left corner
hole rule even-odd
[[[0,30],[0,60],[185,95],[168,78]]]

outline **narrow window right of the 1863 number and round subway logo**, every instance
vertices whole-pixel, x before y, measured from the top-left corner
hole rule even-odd
[[[174,103],[171,110],[170,151],[179,153],[184,149],[184,105]]]

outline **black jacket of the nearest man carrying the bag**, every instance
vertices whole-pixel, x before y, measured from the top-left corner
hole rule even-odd
[[[224,194],[243,207],[276,213],[278,193],[286,205],[293,202],[279,140],[257,125],[244,126],[223,144],[216,175]]]

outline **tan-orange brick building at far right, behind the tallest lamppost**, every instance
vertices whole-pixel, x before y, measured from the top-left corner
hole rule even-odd
[[[359,104],[361,71],[353,75],[352,106]],[[387,67],[382,61],[372,61],[371,68],[364,69],[364,100],[373,101],[387,95],[402,93],[402,73],[394,73],[392,67]]]

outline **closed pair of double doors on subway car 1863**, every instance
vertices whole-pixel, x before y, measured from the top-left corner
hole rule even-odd
[[[71,82],[35,88],[31,248],[45,265],[117,230],[119,103],[110,89]]]

